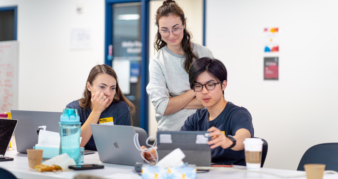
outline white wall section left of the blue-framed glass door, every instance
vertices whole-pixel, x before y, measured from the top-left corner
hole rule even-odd
[[[1,0],[4,6],[18,6],[19,109],[62,111],[104,63],[104,0]],[[72,28],[91,29],[92,49],[70,50]]]

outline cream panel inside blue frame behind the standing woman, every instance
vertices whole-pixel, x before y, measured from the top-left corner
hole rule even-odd
[[[185,17],[188,19],[187,28],[192,33],[192,41],[203,43],[203,3],[202,0],[175,0],[183,9]],[[153,0],[149,3],[149,58],[154,56],[154,39],[157,33],[155,26],[156,10],[162,6],[162,0]],[[149,98],[149,136],[156,136],[157,122],[155,119],[155,110]]]

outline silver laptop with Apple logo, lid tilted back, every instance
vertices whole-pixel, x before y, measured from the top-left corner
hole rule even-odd
[[[134,144],[133,126],[90,124],[90,128],[102,162],[130,166],[143,162]]]

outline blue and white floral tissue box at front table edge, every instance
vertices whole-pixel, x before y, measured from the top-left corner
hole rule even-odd
[[[142,165],[143,179],[195,179],[196,165],[187,165],[180,167],[156,167],[154,165]]]

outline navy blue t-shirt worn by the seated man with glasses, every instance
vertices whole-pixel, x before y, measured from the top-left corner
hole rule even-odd
[[[205,131],[215,126],[225,135],[235,136],[238,129],[245,128],[254,137],[254,126],[249,111],[243,107],[227,102],[224,110],[214,120],[208,121],[209,112],[207,109],[198,109],[184,122],[181,130],[200,130]],[[233,163],[234,165],[245,166],[244,150],[234,151],[223,149],[221,146],[211,149],[211,162],[213,163]]]

